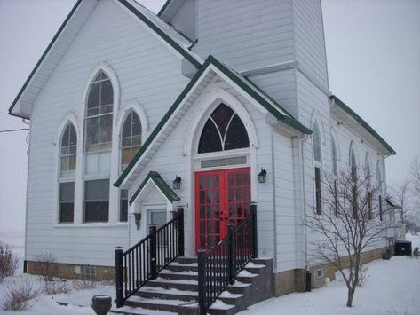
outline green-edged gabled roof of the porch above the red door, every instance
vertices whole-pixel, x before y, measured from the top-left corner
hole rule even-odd
[[[168,122],[168,120],[170,119],[170,116],[175,112],[179,104],[183,101],[183,99],[186,97],[188,92],[193,88],[194,84],[200,79],[204,71],[210,65],[217,67],[218,70],[220,70],[223,74],[225,74],[227,77],[233,80],[234,83],[240,86],[242,90],[246,91],[252,98],[257,100],[259,104],[264,106],[265,109],[271,114],[273,114],[273,116],[277,118],[279,121],[285,122],[290,127],[302,133],[305,133],[305,134],[312,133],[311,130],[307,129],[300,122],[297,122],[297,120],[294,119],[291,115],[289,116],[287,112],[278,103],[276,103],[272,98],[269,98],[264,92],[256,89],[255,85],[251,84],[249,80],[247,80],[242,75],[234,72],[229,67],[226,67],[226,65],[222,64],[221,62],[218,61],[218,59],[210,55],[206,59],[202,67],[200,67],[199,71],[194,75],[191,81],[186,85],[186,88],[184,89],[184,91],[182,91],[181,94],[179,94],[178,98],[175,100],[172,106],[170,106],[169,111],[163,116],[162,120],[157,124],[155,130],[153,130],[153,132],[147,138],[143,146],[141,146],[141,148],[139,149],[139,152],[136,155],[134,155],[131,162],[124,169],[121,176],[118,177],[118,179],[116,180],[114,184],[116,187],[118,187],[119,185],[123,183],[124,178],[127,177],[131,169],[134,167],[137,161],[139,161],[139,158],[146,152],[147,148],[153,143],[159,131],[162,130],[165,123]],[[283,112],[284,114],[281,114],[281,112]]]

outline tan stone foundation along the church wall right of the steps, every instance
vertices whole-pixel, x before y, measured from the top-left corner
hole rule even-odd
[[[382,253],[386,248],[376,248],[363,253],[362,262],[367,264],[373,260],[382,258]],[[348,262],[348,259],[347,259]],[[344,263],[347,264],[346,259]],[[319,264],[311,266],[309,268],[311,272],[311,287],[321,287],[322,284],[316,281],[317,271],[321,269],[323,278],[329,278],[330,280],[336,279],[337,269],[333,264]],[[291,292],[305,292],[306,289],[306,277],[305,269],[294,269],[285,272],[279,272],[273,274],[274,280],[274,295],[286,295]]]

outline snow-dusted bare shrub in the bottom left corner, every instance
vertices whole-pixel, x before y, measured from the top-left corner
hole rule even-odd
[[[31,300],[40,295],[36,285],[28,280],[14,281],[4,288],[2,308],[4,311],[24,311],[32,306]]]

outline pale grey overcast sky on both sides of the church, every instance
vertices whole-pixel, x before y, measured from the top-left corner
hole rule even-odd
[[[139,0],[158,12],[163,0]],[[0,0],[0,130],[28,128],[7,114],[75,0]],[[329,89],[392,147],[388,185],[420,156],[420,1],[322,0]],[[0,133],[0,233],[24,230],[27,131]],[[0,235],[1,237],[1,235]]]

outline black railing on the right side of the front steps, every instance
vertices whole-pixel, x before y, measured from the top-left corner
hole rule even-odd
[[[250,206],[250,217],[237,226],[227,224],[226,238],[210,249],[198,252],[198,303],[200,314],[234,284],[235,277],[251,258],[257,258],[257,206]]]

